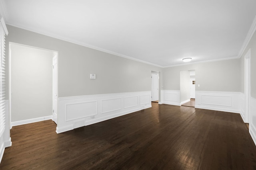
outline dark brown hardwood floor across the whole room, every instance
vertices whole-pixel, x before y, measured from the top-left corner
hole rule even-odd
[[[256,169],[239,114],[152,106],[60,134],[51,120],[13,127],[0,169]]]

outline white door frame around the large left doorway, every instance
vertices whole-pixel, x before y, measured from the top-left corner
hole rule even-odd
[[[9,78],[9,121],[10,121],[10,129],[12,129],[12,74],[11,74],[11,68],[12,68],[12,50],[11,50],[11,46],[12,44],[16,44],[16,45],[21,45],[21,46],[25,46],[25,47],[30,47],[30,48],[34,48],[34,49],[42,49],[42,50],[46,50],[46,51],[52,51],[52,52],[55,52],[56,53],[56,56],[57,56],[57,68],[58,68],[58,51],[53,51],[53,50],[49,50],[49,49],[43,49],[43,48],[39,48],[39,47],[33,47],[33,46],[30,46],[30,45],[24,45],[24,44],[19,44],[19,43],[13,43],[13,42],[9,42],[9,75],[8,75],[8,78]],[[57,95],[58,95],[58,69],[57,69]],[[57,106],[58,108],[58,100],[57,100]],[[58,109],[57,109],[58,111]],[[57,113],[57,116],[58,116],[58,112],[56,111]]]

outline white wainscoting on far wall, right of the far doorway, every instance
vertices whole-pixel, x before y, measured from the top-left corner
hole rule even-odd
[[[240,92],[196,91],[195,108],[240,113]]]

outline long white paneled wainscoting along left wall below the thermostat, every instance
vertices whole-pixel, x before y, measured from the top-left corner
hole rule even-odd
[[[59,98],[57,133],[151,107],[151,91]]]

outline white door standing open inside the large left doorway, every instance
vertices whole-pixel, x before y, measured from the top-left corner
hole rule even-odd
[[[52,120],[57,124],[57,55],[52,58]]]

